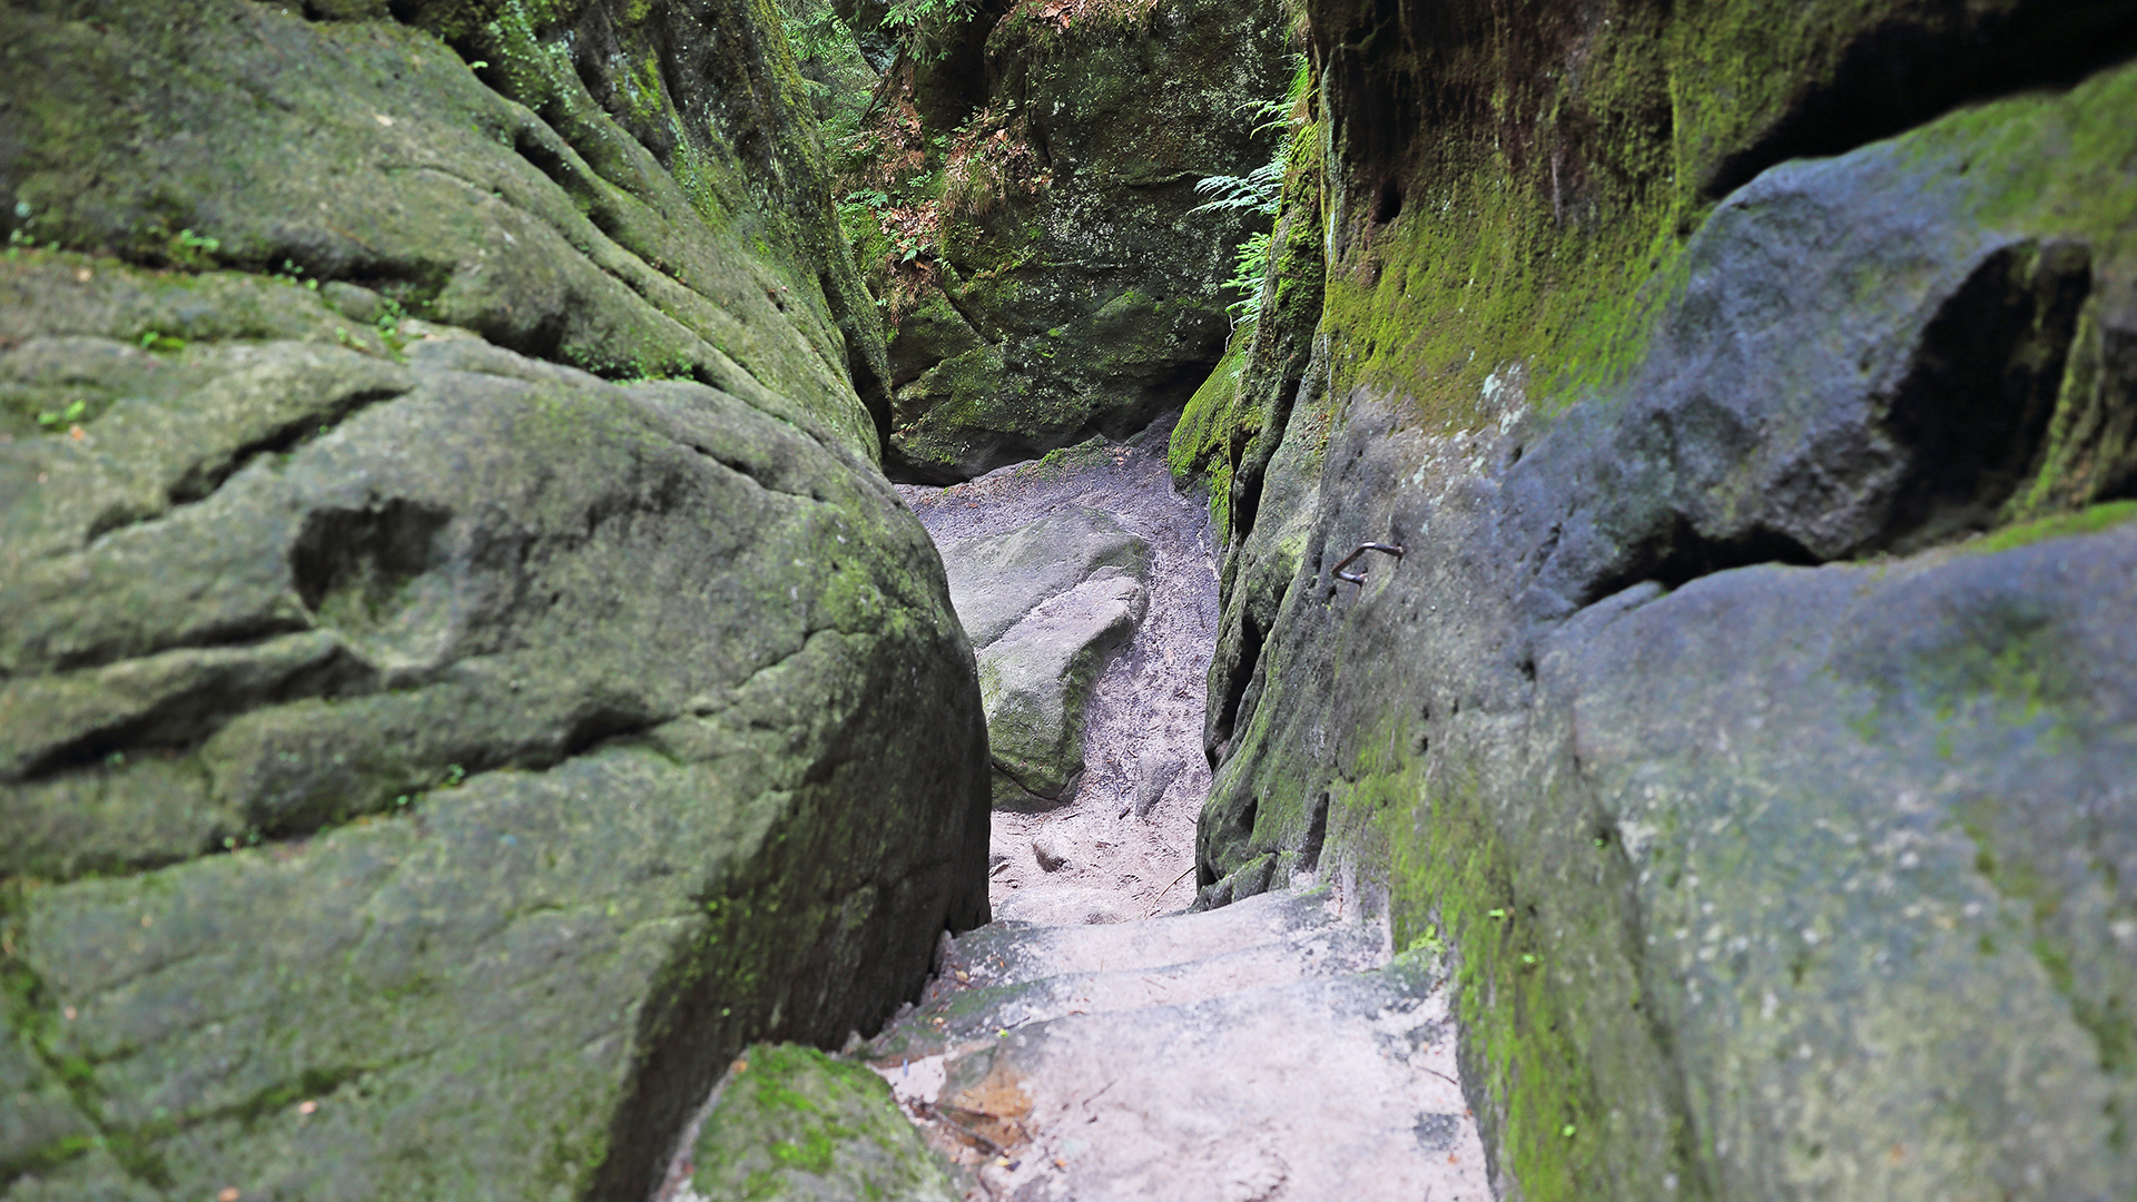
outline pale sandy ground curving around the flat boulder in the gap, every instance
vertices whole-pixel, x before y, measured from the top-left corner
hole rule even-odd
[[[996,813],[994,915],[1013,922],[1128,922],[1195,900],[1195,815],[1210,793],[1203,691],[1216,648],[1216,560],[1201,494],[1165,468],[1169,423],[951,488],[900,486],[934,539],[1015,530],[1062,505],[1111,513],[1152,548],[1150,607],[1098,678],[1083,734],[1083,783],[1047,813]],[[1066,462],[1062,462],[1066,460]],[[1148,802],[1135,813],[1139,789]],[[1039,849],[1049,853],[1047,868]]]

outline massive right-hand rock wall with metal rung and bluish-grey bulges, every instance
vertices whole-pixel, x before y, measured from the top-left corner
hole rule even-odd
[[[2133,30],[1870,9],[1675,124],[1631,101],[1750,45],[1729,6],[1385,51],[1314,9],[1329,276],[1244,438],[1201,883],[1385,879],[1530,1202],[2137,1191],[2137,71],[2088,75]],[[1776,133],[2064,17],[2084,53],[1983,66],[2056,90]],[[1404,556],[1333,580],[1366,541]]]

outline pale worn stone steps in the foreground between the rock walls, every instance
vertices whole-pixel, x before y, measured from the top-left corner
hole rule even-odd
[[[1357,900],[983,926],[868,1054],[1015,1198],[1492,1198],[1445,971]]]

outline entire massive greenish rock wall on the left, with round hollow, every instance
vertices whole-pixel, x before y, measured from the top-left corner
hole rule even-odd
[[[11,1202],[643,1198],[987,913],[776,38],[331,9],[0,11]]]

